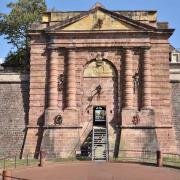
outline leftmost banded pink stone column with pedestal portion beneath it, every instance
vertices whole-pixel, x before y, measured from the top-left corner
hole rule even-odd
[[[59,114],[58,108],[58,50],[49,48],[48,108],[45,112],[45,125],[54,125],[54,118]]]

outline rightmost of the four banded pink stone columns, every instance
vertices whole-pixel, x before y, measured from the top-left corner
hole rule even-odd
[[[143,61],[143,109],[152,109],[151,106],[151,59],[150,49],[144,49]]]

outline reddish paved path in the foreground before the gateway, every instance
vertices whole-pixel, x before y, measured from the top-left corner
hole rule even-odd
[[[59,163],[17,169],[12,175],[28,180],[180,180],[178,169],[105,162]]]

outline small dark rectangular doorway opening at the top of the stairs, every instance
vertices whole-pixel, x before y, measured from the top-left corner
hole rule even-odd
[[[106,107],[95,106],[93,108],[94,125],[106,125]]]

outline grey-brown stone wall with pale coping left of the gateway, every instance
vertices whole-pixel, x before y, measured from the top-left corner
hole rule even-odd
[[[0,157],[21,154],[28,106],[28,75],[0,73]]]

